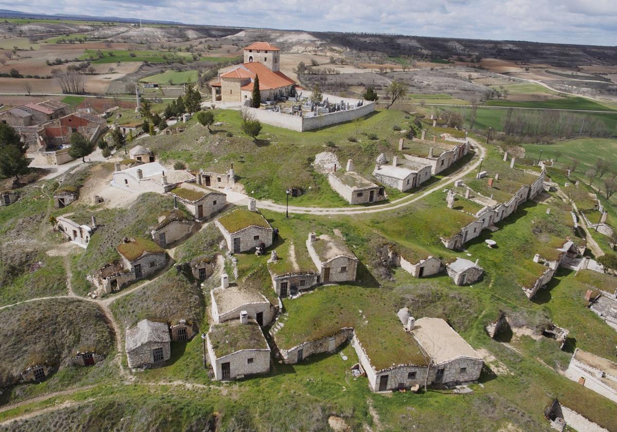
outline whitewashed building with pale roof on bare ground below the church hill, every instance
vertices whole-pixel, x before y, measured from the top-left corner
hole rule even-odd
[[[157,192],[160,194],[177,188],[181,183],[191,182],[195,176],[187,170],[165,170],[158,162],[137,165],[120,170],[116,162],[110,185],[131,192]]]

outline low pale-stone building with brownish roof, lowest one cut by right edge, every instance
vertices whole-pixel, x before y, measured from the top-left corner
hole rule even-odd
[[[617,402],[617,363],[576,348],[566,376],[582,386]]]

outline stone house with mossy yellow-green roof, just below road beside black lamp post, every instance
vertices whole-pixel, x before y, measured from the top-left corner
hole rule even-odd
[[[255,201],[251,201],[249,206],[252,210],[237,207],[215,222],[233,254],[251,251],[260,243],[265,244],[265,247],[272,244],[274,230],[270,223],[257,211]]]

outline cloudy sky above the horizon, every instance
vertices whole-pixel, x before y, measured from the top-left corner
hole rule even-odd
[[[237,27],[617,44],[615,0],[0,0],[0,9]]]

